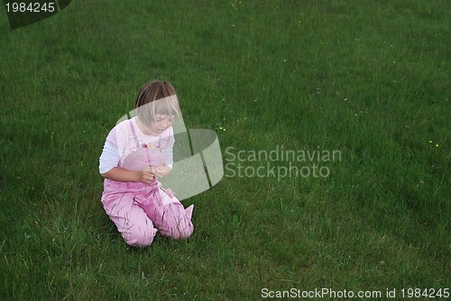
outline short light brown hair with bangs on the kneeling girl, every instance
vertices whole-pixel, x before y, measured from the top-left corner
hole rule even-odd
[[[158,101],[157,101],[158,100]],[[180,115],[179,101],[174,87],[167,81],[153,80],[143,86],[134,102],[138,118],[152,123],[155,115]]]

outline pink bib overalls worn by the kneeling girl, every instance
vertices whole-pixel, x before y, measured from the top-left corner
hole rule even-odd
[[[143,170],[148,166],[164,165],[163,150],[169,139],[161,139],[156,147],[143,147],[137,139],[132,121],[127,122],[133,133],[129,138],[131,151],[121,160],[119,167]],[[158,231],[178,240],[189,238],[194,230],[191,223],[194,205],[185,209],[170,189],[165,192],[157,180],[152,184],[144,184],[106,179],[102,204],[125,242],[132,246],[149,246]]]

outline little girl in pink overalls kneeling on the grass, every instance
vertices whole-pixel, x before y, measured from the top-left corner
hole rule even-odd
[[[193,205],[184,209],[157,178],[172,169],[172,121],[179,103],[168,82],[147,83],[135,101],[136,117],[109,132],[99,170],[105,178],[102,204],[125,242],[145,247],[160,231],[176,240],[193,233]]]

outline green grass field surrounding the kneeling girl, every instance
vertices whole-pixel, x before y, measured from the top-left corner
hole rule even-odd
[[[256,300],[292,287],[443,295],[450,11],[446,0],[74,0],[12,31],[2,6],[0,299]],[[177,89],[187,128],[217,130],[232,164],[183,201],[195,205],[189,241],[157,236],[134,249],[100,203],[98,157],[153,78]],[[341,159],[248,158],[281,147]],[[316,162],[327,177],[235,169]]]

